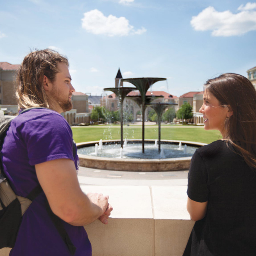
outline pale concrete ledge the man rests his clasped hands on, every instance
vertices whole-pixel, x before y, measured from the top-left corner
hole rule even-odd
[[[107,225],[85,226],[93,256],[182,256],[194,221],[186,211],[186,186],[81,186],[109,195]],[[8,256],[9,248],[0,250]]]

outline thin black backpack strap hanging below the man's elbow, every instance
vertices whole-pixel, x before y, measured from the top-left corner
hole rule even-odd
[[[52,212],[52,209],[50,208],[48,201],[46,202],[46,210],[47,210],[52,222],[54,223],[54,226],[58,230],[58,233],[62,237],[62,240],[68,246],[68,250],[70,251],[70,253],[72,255],[74,255],[76,252],[76,247],[71,242],[70,237],[68,236],[68,233],[66,232],[66,230],[63,226],[62,220]]]

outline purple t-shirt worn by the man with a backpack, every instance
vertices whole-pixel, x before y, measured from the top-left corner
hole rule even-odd
[[[26,197],[39,182],[35,164],[68,158],[74,159],[72,130],[66,120],[49,109],[32,109],[14,118],[4,140],[0,156],[14,192]],[[45,208],[46,196],[41,192],[22,217],[11,256],[70,256],[68,247],[58,234]],[[75,256],[91,256],[92,248],[84,227],[64,227],[76,247]]]

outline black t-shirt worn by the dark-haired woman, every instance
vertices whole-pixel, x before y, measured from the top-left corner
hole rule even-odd
[[[191,255],[256,255],[256,170],[234,151],[218,140],[192,157],[187,194],[208,205],[192,231]]]

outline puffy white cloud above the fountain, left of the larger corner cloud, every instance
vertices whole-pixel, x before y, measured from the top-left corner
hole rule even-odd
[[[145,28],[134,30],[134,26],[129,24],[125,17],[104,16],[99,10],[91,10],[84,13],[82,18],[82,28],[92,34],[103,34],[106,36],[128,36],[130,34],[143,34]]]

